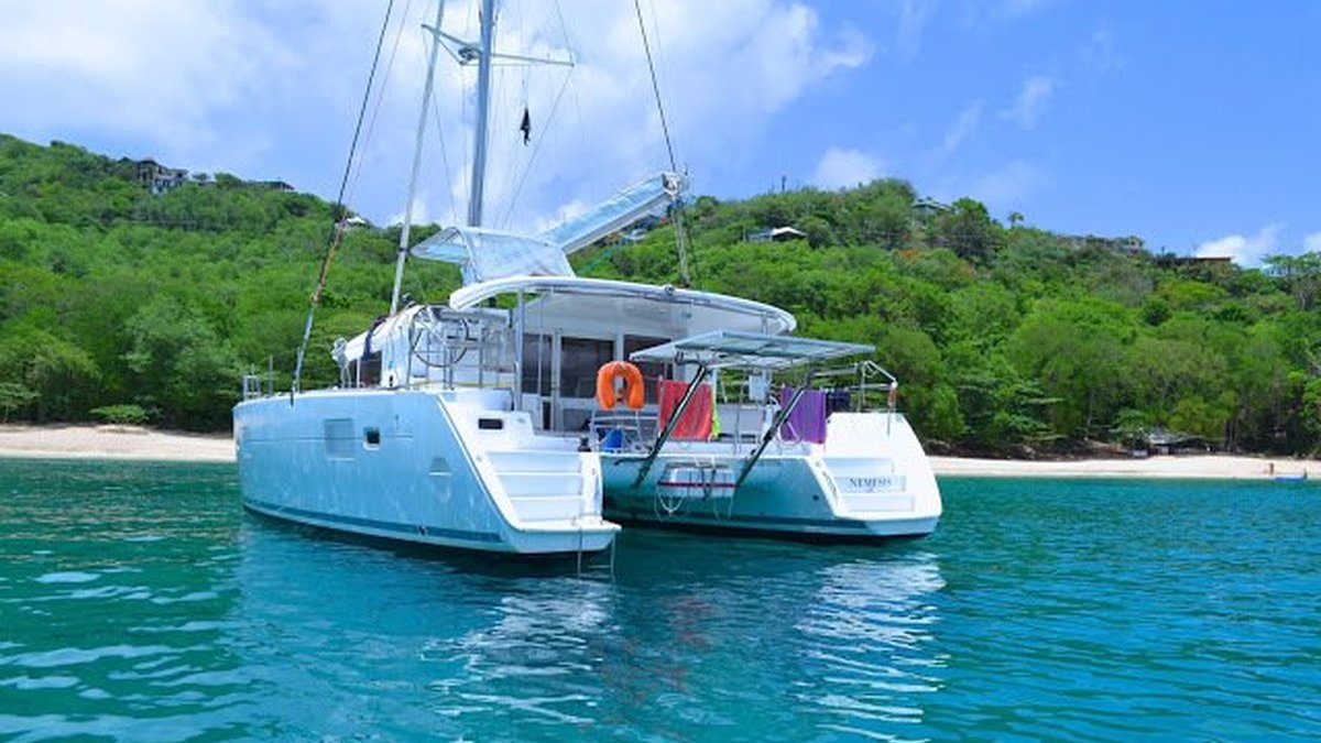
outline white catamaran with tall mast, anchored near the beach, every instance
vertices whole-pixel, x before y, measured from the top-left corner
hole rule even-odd
[[[481,41],[456,54],[478,65],[469,223],[400,250],[390,315],[333,349],[337,386],[263,395],[246,381],[244,505],[518,554],[604,550],[618,522],[931,533],[935,477],[872,346],[793,336],[793,315],[748,299],[575,275],[569,255],[674,209],[680,173],[539,235],[481,226],[494,22],[483,0]],[[457,264],[464,286],[444,305],[402,301],[408,256]]]

